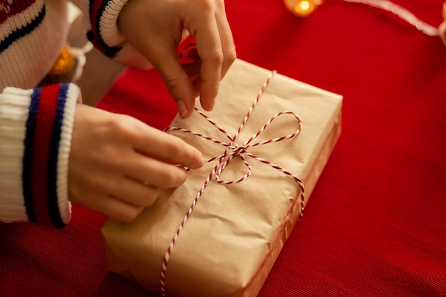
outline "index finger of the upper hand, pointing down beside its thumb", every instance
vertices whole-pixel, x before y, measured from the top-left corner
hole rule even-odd
[[[195,40],[202,63],[200,103],[204,110],[212,110],[222,74],[223,52],[214,12],[206,16],[207,19],[202,20],[202,26],[195,31]]]

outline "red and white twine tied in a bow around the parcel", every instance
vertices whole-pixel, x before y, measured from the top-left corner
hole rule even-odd
[[[206,136],[206,135],[202,135],[201,133],[193,132],[191,130],[187,130],[187,129],[184,129],[184,128],[181,128],[181,127],[168,127],[167,129],[165,129],[166,132],[167,131],[181,131],[181,132],[190,133],[190,134],[198,136],[198,137],[202,137],[205,140],[209,140],[209,141],[212,141],[212,142],[217,143],[219,145],[222,145],[223,147],[226,147],[226,150],[224,150],[222,155],[219,155],[217,157],[211,157],[211,158],[205,160],[205,162],[212,162],[214,160],[218,160],[218,162],[217,162],[217,165],[215,165],[214,168],[212,169],[212,172],[210,172],[210,174],[207,176],[207,179],[204,182],[204,184],[202,184],[202,187],[197,192],[197,196],[193,200],[189,210],[187,211],[187,214],[185,214],[184,219],[182,220],[182,222],[181,222],[180,226],[178,227],[177,231],[175,232],[175,235],[173,236],[172,241],[170,241],[169,247],[167,248],[167,251],[165,252],[164,260],[162,262],[162,271],[161,271],[161,277],[160,277],[160,289],[161,289],[162,296],[166,296],[165,295],[165,293],[166,293],[165,280],[166,280],[167,264],[169,263],[170,254],[172,254],[172,249],[174,248],[175,243],[176,243],[178,237],[180,236],[180,233],[181,233],[182,229],[184,228],[184,226],[185,226],[185,224],[187,222],[187,219],[189,219],[190,215],[194,211],[195,206],[197,205],[197,202],[198,202],[199,198],[202,197],[204,189],[206,189],[207,185],[209,184],[209,182],[211,182],[213,177],[215,177],[217,182],[220,183],[220,184],[234,184],[234,183],[237,183],[237,182],[242,182],[244,179],[247,179],[251,175],[251,172],[252,172],[251,165],[249,165],[249,162],[247,162],[247,157],[252,157],[252,158],[254,158],[256,160],[259,160],[263,164],[269,165],[269,166],[273,167],[274,169],[279,170],[280,172],[283,172],[288,177],[291,177],[292,179],[294,179],[297,182],[297,184],[299,184],[299,187],[301,189],[301,210],[300,210],[300,215],[301,216],[303,215],[304,204],[305,204],[305,197],[304,197],[304,183],[301,181],[301,179],[299,179],[299,177],[296,177],[296,175],[292,174],[291,172],[288,172],[287,170],[284,170],[284,168],[281,168],[278,165],[275,165],[275,164],[269,162],[268,160],[264,160],[263,158],[258,157],[256,155],[253,155],[253,154],[251,154],[251,152],[247,151],[250,147],[256,147],[256,146],[259,146],[259,145],[266,145],[266,144],[271,143],[271,142],[279,142],[279,141],[282,141],[282,140],[289,140],[289,139],[291,139],[293,137],[296,137],[296,135],[299,135],[299,132],[301,132],[301,127],[302,127],[302,122],[301,122],[301,119],[299,118],[299,116],[296,115],[296,113],[294,113],[292,111],[281,111],[279,113],[276,113],[276,115],[274,115],[271,119],[269,119],[261,127],[261,129],[258,132],[256,132],[252,137],[250,137],[249,140],[244,142],[243,145],[238,145],[237,142],[236,142],[237,137],[239,136],[240,132],[242,132],[242,129],[243,129],[244,125],[246,125],[247,121],[249,120],[249,117],[251,116],[251,113],[253,112],[254,108],[256,107],[256,104],[259,102],[259,99],[261,98],[261,95],[264,93],[264,90],[268,86],[269,81],[271,80],[271,78],[275,74],[276,74],[276,71],[272,71],[270,73],[269,77],[264,82],[264,84],[261,86],[261,89],[259,90],[259,94],[256,96],[256,98],[254,100],[254,103],[249,108],[247,115],[244,117],[242,124],[239,126],[239,129],[237,130],[237,132],[235,133],[234,136],[229,135],[229,133],[226,130],[224,130],[223,127],[217,125],[217,123],[215,123],[214,120],[212,120],[207,115],[202,113],[202,111],[200,111],[197,108],[195,108],[195,111],[197,111],[197,113],[199,113],[199,115],[202,115],[202,117],[205,118],[214,127],[216,127],[217,130],[219,130],[224,135],[226,135],[226,137],[228,138],[229,142],[223,142],[223,141],[214,139],[212,137],[209,137],[209,136]],[[294,119],[299,124],[297,129],[296,129],[296,131],[294,131],[291,134],[286,135],[286,136],[276,137],[274,139],[264,140],[264,141],[261,141],[261,142],[254,142],[254,143],[252,143],[256,139],[256,137],[258,137],[261,134],[261,132],[263,132],[266,129],[266,127],[269,126],[269,124],[271,124],[276,118],[279,118],[279,116],[281,116],[281,115],[292,115],[292,116],[294,116]],[[241,158],[242,162],[244,162],[244,165],[247,167],[247,174],[244,174],[244,176],[240,177],[239,179],[235,179],[235,180],[222,180],[222,179],[220,179],[220,175],[222,174],[224,168],[229,164],[229,162],[231,162],[232,158],[235,155],[238,155]]]

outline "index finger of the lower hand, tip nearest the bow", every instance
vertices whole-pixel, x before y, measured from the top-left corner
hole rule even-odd
[[[133,145],[138,152],[190,168],[199,168],[204,164],[201,152],[179,137],[144,124],[135,133]]]

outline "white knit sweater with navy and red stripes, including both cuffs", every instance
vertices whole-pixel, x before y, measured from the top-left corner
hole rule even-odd
[[[127,0],[73,1],[88,21],[88,38],[120,59],[116,20]],[[91,4],[91,5],[90,5]],[[73,83],[36,88],[68,33],[65,0],[0,0],[0,220],[65,226],[68,157],[76,102]]]

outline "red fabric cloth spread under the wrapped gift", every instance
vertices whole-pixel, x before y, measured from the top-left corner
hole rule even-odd
[[[437,26],[442,0],[395,0]],[[343,132],[259,296],[446,296],[446,48],[393,14],[326,0],[230,0],[239,58],[344,96]],[[127,71],[100,108],[156,127],[175,113],[156,73]],[[105,217],[62,230],[0,224],[0,296],[147,296],[107,273]]]

